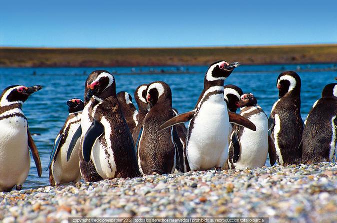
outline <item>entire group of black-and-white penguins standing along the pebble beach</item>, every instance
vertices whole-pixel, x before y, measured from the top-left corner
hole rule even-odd
[[[116,79],[106,70],[86,79],[83,100],[66,103],[69,115],[57,134],[46,170],[50,185],[148,174],[335,160],[337,84],[328,84],[304,124],[300,76],[281,73],[279,99],[269,118],[252,92],[225,80],[240,64],[214,62],[193,110],[179,114],[172,91],[163,81],[141,83],[132,96],[116,93]],[[0,96],[0,191],[19,190],[30,167],[29,149],[38,175],[38,150],[22,104],[41,86],[9,86]],[[239,113],[236,113],[240,109]],[[188,127],[185,126],[188,123]]]

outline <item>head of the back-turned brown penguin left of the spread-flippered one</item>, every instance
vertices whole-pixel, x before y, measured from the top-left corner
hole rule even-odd
[[[169,103],[172,106],[172,92],[167,83],[156,81],[148,84],[146,89],[147,109],[156,104]]]

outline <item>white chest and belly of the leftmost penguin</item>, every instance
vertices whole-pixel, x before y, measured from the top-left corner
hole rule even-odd
[[[28,176],[27,125],[21,116],[0,120],[0,191],[22,184]]]

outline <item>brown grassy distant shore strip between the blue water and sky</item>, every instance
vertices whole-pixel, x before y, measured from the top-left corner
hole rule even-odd
[[[186,48],[0,47],[0,67],[134,67],[337,63],[337,44]]]

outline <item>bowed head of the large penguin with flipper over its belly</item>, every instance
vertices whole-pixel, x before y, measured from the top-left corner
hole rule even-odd
[[[93,71],[85,81],[84,99],[87,103],[92,96],[105,99],[116,95],[114,76],[105,70]]]

